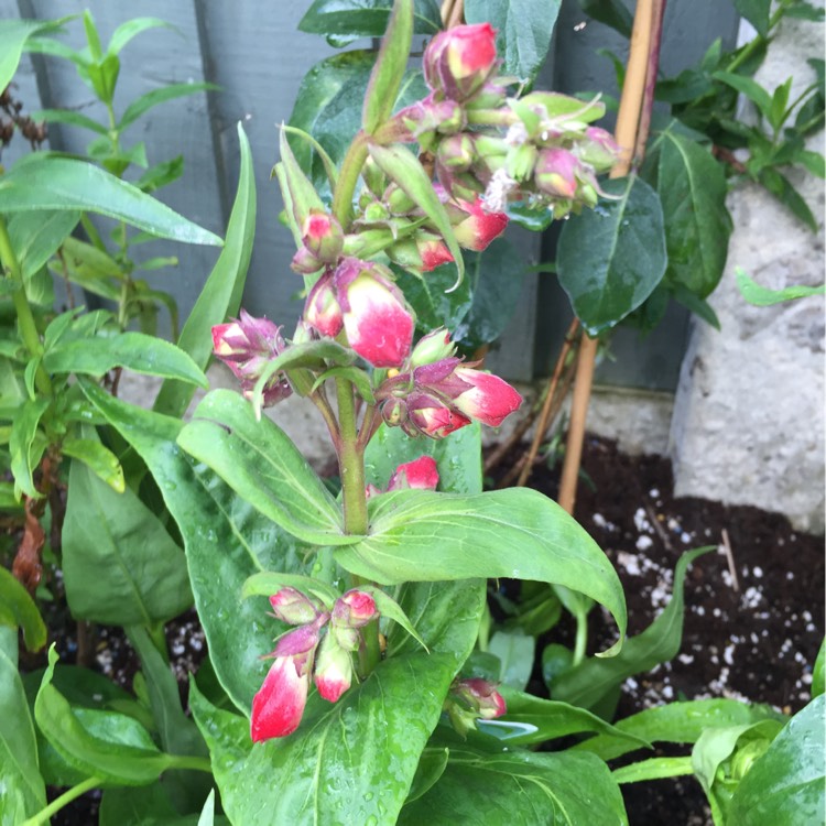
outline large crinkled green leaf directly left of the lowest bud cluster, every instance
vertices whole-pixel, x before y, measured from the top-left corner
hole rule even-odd
[[[211,470],[175,444],[181,422],[113,399],[99,388],[84,391],[148,465],[186,547],[195,607],[218,678],[239,709],[249,714],[268,671],[262,654],[287,627],[265,615],[265,600],[242,600],[243,583],[264,569],[318,576],[309,551]]]

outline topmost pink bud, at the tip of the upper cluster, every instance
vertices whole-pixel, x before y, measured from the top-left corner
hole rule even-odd
[[[441,32],[427,45],[423,63],[425,80],[434,91],[467,100],[496,68],[496,31],[490,23],[478,23]]]

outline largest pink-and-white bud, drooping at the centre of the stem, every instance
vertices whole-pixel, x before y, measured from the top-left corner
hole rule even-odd
[[[373,367],[400,367],[410,354],[414,320],[390,271],[346,258],[334,284],[349,346]]]

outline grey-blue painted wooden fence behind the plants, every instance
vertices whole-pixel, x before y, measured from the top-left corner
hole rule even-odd
[[[632,3],[630,3],[632,4]],[[150,162],[178,153],[186,159],[184,177],[159,196],[187,217],[222,233],[238,175],[236,123],[240,120],[254,160],[259,191],[256,247],[244,295],[247,306],[265,313],[292,332],[300,303],[294,298],[301,281],[289,269],[292,239],[281,226],[278,186],[270,180],[278,160],[278,124],[287,120],[298,86],[313,64],[336,53],[323,37],[297,31],[309,0],[260,3],[237,0],[144,0],[139,7],[111,0],[0,0],[4,15],[48,19],[90,8],[107,37],[115,26],[135,15],[156,15],[174,23],[181,35],[164,30],[138,36],[123,52],[119,100],[160,83],[207,79],[221,90],[207,98],[198,94],[157,107],[133,128],[131,138],[145,140]],[[564,0],[555,42],[543,69],[542,85],[559,90],[607,90],[616,94],[613,69],[607,58],[595,56],[609,48],[624,59],[626,41],[599,23],[580,25],[584,15],[575,0]],[[664,23],[663,67],[674,74],[696,61],[716,37],[732,42],[737,17],[728,3],[716,0],[672,0]],[[73,43],[83,39],[79,23],[70,25]],[[357,47],[354,44],[350,47]],[[78,107],[95,115],[91,93],[61,62],[39,59],[43,106]],[[28,58],[18,80],[25,88],[30,109],[34,85]],[[613,90],[613,91],[612,91]],[[122,104],[120,105],[122,106]],[[54,129],[53,144],[83,149],[87,137],[76,130]],[[13,155],[6,155],[8,162]],[[540,242],[519,231],[512,236],[526,265],[553,258],[553,232]],[[188,312],[217,254],[214,249],[186,248],[148,254],[177,254],[181,265],[152,276],[151,282],[176,296],[182,314]],[[510,378],[531,378],[546,372],[567,328],[569,308],[553,276],[529,276],[517,315],[492,363]],[[673,388],[684,349],[687,318],[678,311],[648,343],[635,333],[615,336],[616,366],[600,370],[602,380],[652,388]]]

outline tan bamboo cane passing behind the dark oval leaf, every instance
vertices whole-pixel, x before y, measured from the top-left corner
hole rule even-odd
[[[654,11],[657,7],[659,12]],[[626,81],[622,85],[619,115],[615,137],[620,145],[620,159],[611,170],[611,177],[623,177],[628,174],[633,162],[637,146],[640,115],[643,106],[646,77],[655,65],[652,51],[659,52],[660,39],[655,37],[654,26],[662,20],[662,9],[665,0],[639,0],[634,13],[634,25],[631,33],[631,51],[628,56]],[[656,69],[654,68],[654,77]],[[653,104],[653,96],[646,104]],[[574,396],[570,405],[570,426],[565,447],[565,460],[559,481],[558,502],[568,513],[574,512],[576,501],[576,483],[579,477],[579,465],[583,457],[583,442],[585,439],[585,421],[588,414],[590,390],[594,384],[594,366],[597,358],[597,339],[588,335],[583,337],[579,347],[579,359],[574,385]]]

